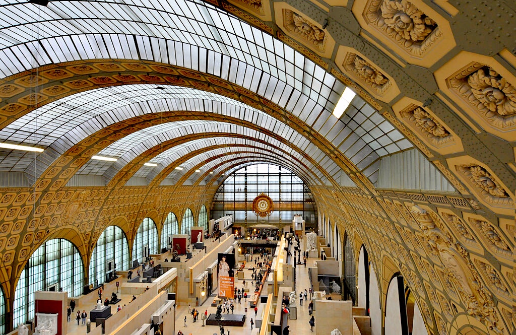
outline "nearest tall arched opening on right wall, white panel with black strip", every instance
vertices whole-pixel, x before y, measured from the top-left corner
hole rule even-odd
[[[403,276],[389,282],[385,301],[385,335],[409,335]]]

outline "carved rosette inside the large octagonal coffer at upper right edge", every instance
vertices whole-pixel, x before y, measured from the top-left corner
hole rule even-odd
[[[516,89],[493,69],[479,69],[467,78],[467,83],[475,98],[489,109],[488,117],[493,113],[516,115]]]

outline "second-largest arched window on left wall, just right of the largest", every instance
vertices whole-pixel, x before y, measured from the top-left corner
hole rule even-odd
[[[88,283],[97,285],[112,271],[129,269],[129,246],[122,229],[109,226],[99,237],[91,254]]]

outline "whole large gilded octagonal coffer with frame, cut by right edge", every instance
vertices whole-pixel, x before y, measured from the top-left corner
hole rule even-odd
[[[461,52],[438,69],[439,88],[484,131],[516,138],[516,76],[492,57]]]

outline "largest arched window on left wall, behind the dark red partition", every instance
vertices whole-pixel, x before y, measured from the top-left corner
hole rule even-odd
[[[34,292],[83,293],[84,266],[77,248],[63,238],[46,241],[30,256],[14,292],[13,325],[34,319]]]

